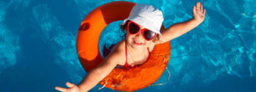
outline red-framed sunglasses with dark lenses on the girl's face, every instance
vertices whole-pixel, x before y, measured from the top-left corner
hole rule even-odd
[[[152,32],[152,31],[149,30],[149,29],[140,30],[139,25],[136,24],[136,23],[133,22],[133,21],[128,22],[128,25],[127,25],[127,26],[128,26],[127,29],[128,29],[129,34],[134,35],[134,34],[137,34],[137,33],[139,33],[139,32],[142,32],[143,38],[144,38],[145,40],[147,40],[147,41],[152,40],[152,39],[154,39],[154,38],[157,36],[157,33]]]

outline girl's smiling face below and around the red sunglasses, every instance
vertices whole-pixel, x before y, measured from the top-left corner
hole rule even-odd
[[[140,30],[145,29],[145,27],[139,25]],[[152,40],[145,40],[143,38],[142,32],[137,34],[129,34],[128,30],[126,29],[126,42],[129,44],[134,50],[143,50],[152,43]]]

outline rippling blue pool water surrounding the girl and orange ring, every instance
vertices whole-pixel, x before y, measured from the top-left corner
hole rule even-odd
[[[76,85],[86,72],[76,53],[82,19],[107,1],[0,0],[0,91],[56,91],[67,81]],[[164,26],[192,18],[195,0],[131,0],[151,4],[164,13]],[[201,0],[205,20],[170,41],[170,80],[138,91],[255,92],[256,1]],[[116,44],[118,24],[108,25],[99,47]],[[102,50],[101,50],[102,52]],[[155,83],[164,83],[169,74]],[[113,91],[108,88],[90,91]]]

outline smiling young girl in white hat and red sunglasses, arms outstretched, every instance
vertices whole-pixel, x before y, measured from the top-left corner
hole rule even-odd
[[[149,57],[149,53],[156,44],[168,42],[179,37],[189,30],[197,27],[204,21],[205,9],[200,2],[193,6],[193,18],[189,21],[171,25],[167,29],[160,30],[164,18],[159,9],[147,5],[136,4],[129,17],[122,22],[121,29],[126,31],[125,39],[121,40],[106,59],[89,71],[82,79],[81,83],[74,85],[67,82],[69,88],[56,86],[56,90],[65,92],[86,92],[105,78],[117,66],[132,70],[135,65],[144,63]]]

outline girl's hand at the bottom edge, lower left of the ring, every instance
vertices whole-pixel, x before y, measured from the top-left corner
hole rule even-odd
[[[59,86],[56,86],[55,89],[62,91],[62,92],[80,92],[80,89],[78,88],[78,86],[76,86],[72,83],[69,83],[69,82],[67,82],[66,85],[69,88],[61,88]]]

